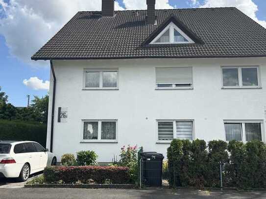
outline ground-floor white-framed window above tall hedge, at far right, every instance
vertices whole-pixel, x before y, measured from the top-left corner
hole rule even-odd
[[[262,141],[262,122],[259,121],[224,121],[226,141]]]

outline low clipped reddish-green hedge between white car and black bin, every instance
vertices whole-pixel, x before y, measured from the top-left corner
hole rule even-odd
[[[50,166],[44,170],[46,183],[89,184],[91,180],[98,184],[126,184],[130,182],[128,167],[114,166]]]

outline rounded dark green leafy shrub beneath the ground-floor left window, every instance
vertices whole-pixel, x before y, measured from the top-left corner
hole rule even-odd
[[[97,165],[98,155],[94,151],[80,151],[76,154],[76,161],[79,166]]]

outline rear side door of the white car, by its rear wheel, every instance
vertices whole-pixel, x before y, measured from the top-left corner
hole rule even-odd
[[[30,173],[32,174],[36,172],[36,170],[40,169],[40,163],[39,163],[40,156],[36,153],[37,151],[32,142],[25,142],[24,147],[26,150],[25,155],[29,159],[30,171],[31,171]]]

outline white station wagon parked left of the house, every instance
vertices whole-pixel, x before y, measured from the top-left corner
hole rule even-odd
[[[0,141],[0,177],[18,177],[26,181],[29,175],[56,165],[56,157],[39,143],[32,141]]]

